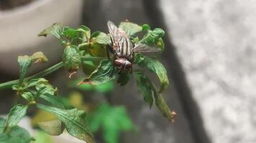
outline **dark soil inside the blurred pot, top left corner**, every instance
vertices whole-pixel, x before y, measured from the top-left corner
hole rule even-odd
[[[28,4],[31,1],[35,1],[35,0],[0,0],[0,11],[7,10],[7,9],[14,9],[17,6]]]

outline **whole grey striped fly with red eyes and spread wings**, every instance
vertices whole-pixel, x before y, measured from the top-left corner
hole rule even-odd
[[[129,39],[124,29],[118,28],[113,22],[107,22],[111,36],[111,52],[115,56],[114,66],[121,72],[132,70],[132,60],[135,53],[147,53],[160,51],[146,44],[135,44]]]

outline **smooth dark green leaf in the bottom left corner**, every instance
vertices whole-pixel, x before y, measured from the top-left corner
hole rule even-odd
[[[16,126],[8,133],[1,133],[4,129],[5,120],[0,118],[0,143],[29,143],[34,140],[29,132],[22,127]]]

